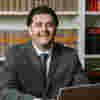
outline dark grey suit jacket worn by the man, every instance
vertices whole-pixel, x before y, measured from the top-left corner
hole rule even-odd
[[[8,66],[8,71],[12,72],[12,78],[8,81],[9,88],[16,87],[23,93],[42,97],[44,93],[42,66],[32,46],[8,49]],[[55,44],[46,89],[48,98],[55,97],[59,88],[84,84],[87,79],[83,76],[76,51]]]

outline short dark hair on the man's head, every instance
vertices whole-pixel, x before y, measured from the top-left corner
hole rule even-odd
[[[39,6],[37,8],[32,8],[29,15],[27,16],[27,21],[26,21],[27,26],[30,26],[32,24],[32,17],[40,13],[50,14],[53,17],[54,24],[58,26],[59,22],[55,11],[52,8],[48,8],[47,6]]]

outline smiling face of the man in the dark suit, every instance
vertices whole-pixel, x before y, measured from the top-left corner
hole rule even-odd
[[[39,47],[49,45],[56,35],[56,25],[49,14],[37,14],[32,17],[32,41]]]

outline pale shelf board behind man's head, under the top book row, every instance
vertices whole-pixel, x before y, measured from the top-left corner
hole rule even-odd
[[[28,15],[29,11],[0,11],[0,15]],[[56,11],[57,15],[79,15],[78,11]]]

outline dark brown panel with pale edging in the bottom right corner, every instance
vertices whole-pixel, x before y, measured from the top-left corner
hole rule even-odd
[[[57,100],[99,100],[100,83],[80,84],[69,87],[60,88]],[[98,99],[97,99],[98,97]],[[96,98],[96,99],[95,99]]]

